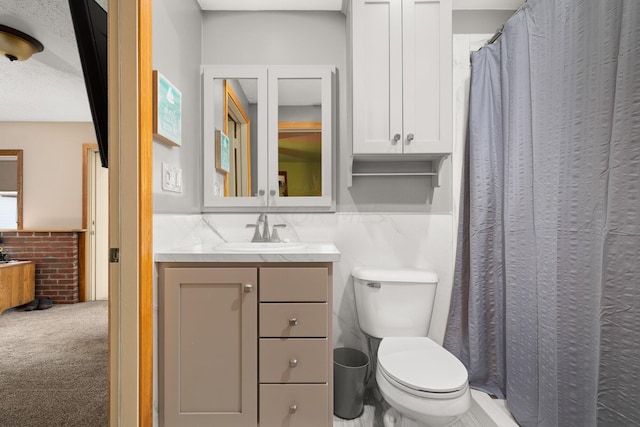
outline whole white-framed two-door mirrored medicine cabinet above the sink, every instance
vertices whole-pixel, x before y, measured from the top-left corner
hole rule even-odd
[[[335,210],[334,74],[203,67],[203,211]]]

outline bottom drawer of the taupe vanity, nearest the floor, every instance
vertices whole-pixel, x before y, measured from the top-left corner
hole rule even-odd
[[[327,384],[261,384],[260,426],[327,427]]]

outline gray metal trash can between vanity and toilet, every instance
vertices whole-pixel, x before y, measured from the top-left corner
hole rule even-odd
[[[364,410],[369,356],[353,348],[333,349],[333,413],[352,420]]]

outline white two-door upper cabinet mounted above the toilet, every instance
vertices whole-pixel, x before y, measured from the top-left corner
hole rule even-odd
[[[452,144],[451,0],[352,0],[353,154]]]

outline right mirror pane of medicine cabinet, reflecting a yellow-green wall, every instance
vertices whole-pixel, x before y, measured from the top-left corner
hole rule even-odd
[[[281,197],[322,195],[321,79],[278,80],[278,186]]]

